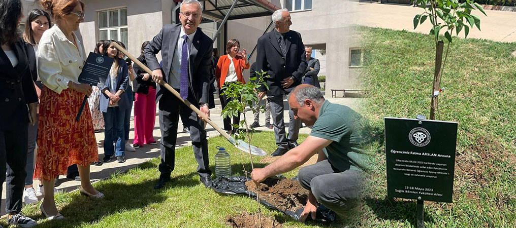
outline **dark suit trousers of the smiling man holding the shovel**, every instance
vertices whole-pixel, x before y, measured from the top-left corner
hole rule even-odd
[[[191,91],[188,93],[188,101],[198,106],[198,101],[195,100]],[[181,100],[168,91],[164,92],[159,99],[159,130],[162,138],[160,144],[161,164],[158,169],[161,177],[170,177],[170,173],[174,170],[175,142],[178,136],[180,114],[188,116],[183,125],[190,129],[193,154],[198,164],[197,173],[201,177],[211,177],[212,171],[208,167],[208,141],[204,124],[201,118],[197,117],[197,113],[186,107]]]

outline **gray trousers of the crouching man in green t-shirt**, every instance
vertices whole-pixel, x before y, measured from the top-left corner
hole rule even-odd
[[[299,169],[299,183],[311,190],[315,199],[338,215],[344,215],[359,199],[365,188],[363,171],[346,170],[338,172],[328,160]]]

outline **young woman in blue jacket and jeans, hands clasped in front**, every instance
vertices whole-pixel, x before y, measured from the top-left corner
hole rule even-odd
[[[104,115],[104,162],[115,155],[119,163],[125,162],[124,120],[125,111],[130,108],[130,100],[125,91],[129,81],[127,63],[118,58],[118,49],[112,45],[114,40],[102,45],[104,54],[114,58],[104,87],[101,88],[100,111]],[[115,147],[113,146],[115,143]]]

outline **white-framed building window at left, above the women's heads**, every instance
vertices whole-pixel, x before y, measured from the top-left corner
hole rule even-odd
[[[127,8],[99,12],[99,40],[121,41],[127,46]]]

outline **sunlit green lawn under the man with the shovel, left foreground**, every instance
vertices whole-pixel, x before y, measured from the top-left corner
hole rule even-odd
[[[302,142],[308,135],[300,135]],[[231,154],[232,171],[235,175],[245,175],[242,164],[251,170],[249,154],[233,147],[223,137],[208,139],[210,168],[214,168],[215,146],[222,146]],[[253,145],[269,154],[276,149],[273,132],[257,132]],[[225,218],[240,212],[255,212],[256,201],[245,196],[222,196],[212,189],[206,189],[199,182],[197,163],[191,147],[176,150],[173,182],[154,190],[159,177],[159,160],[152,159],[126,173],[117,174],[94,186],[106,196],[91,200],[79,193],[58,194],[56,203],[64,220],[47,221],[41,215],[38,205],[23,208],[23,213],[39,219],[41,227],[227,227]],[[256,167],[266,164],[259,161],[263,157],[253,156]],[[285,173],[287,178],[297,175],[295,169]],[[251,210],[251,203],[252,208]],[[302,224],[277,211],[262,207],[263,214],[276,217],[285,227],[321,227],[319,223]],[[5,220],[1,225],[7,227]],[[342,221],[333,224],[342,227]]]

